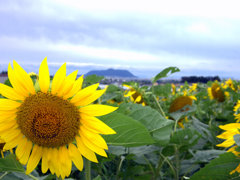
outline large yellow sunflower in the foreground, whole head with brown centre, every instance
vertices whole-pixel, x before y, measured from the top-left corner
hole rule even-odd
[[[57,177],[69,176],[72,162],[83,169],[82,156],[98,162],[96,154],[107,157],[108,146],[100,134],[115,131],[95,116],[108,114],[116,107],[91,104],[106,91],[99,84],[81,89],[83,76],[77,71],[66,76],[63,64],[50,82],[47,58],[33,84],[29,74],[16,62],[9,63],[12,87],[0,84],[0,137],[4,149],[16,147],[19,162],[31,173],[41,160],[41,170]],[[37,88],[38,87],[38,88]]]

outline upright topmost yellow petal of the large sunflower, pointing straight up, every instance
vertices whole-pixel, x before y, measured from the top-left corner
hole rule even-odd
[[[47,57],[44,58],[39,67],[38,83],[42,92],[47,93],[50,86],[50,75],[47,64]]]

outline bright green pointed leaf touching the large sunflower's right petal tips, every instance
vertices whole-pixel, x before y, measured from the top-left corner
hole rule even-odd
[[[144,125],[129,116],[113,112],[100,119],[117,132],[103,136],[109,145],[133,147],[155,143]]]

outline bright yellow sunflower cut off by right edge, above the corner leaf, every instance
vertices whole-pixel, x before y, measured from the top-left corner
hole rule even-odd
[[[229,148],[228,152],[232,152],[236,156],[240,157],[240,152],[238,152],[236,150],[236,148],[238,148],[238,146],[234,140],[234,136],[237,134],[240,134],[240,131],[239,131],[240,123],[230,123],[230,124],[226,124],[226,125],[221,125],[221,126],[219,126],[219,128],[225,130],[225,132],[218,135],[217,137],[220,139],[225,139],[225,141],[222,142],[221,144],[218,144],[217,146]],[[240,164],[237,166],[236,169],[231,171],[230,174],[233,174],[236,171],[240,173]]]

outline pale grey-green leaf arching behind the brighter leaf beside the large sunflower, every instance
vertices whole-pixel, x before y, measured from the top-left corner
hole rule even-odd
[[[155,109],[139,104],[122,104],[118,112],[144,124],[159,144],[165,145],[169,142],[174,121],[166,119]]]

